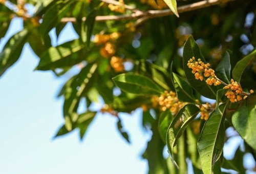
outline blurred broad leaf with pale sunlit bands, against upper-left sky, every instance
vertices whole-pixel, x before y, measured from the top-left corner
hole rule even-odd
[[[68,41],[60,46],[51,47],[42,53],[36,70],[51,70],[56,68],[65,68],[79,63],[85,57],[81,56],[84,45],[75,39]]]

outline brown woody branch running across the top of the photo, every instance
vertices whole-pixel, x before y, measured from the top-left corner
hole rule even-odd
[[[102,2],[112,2],[112,0],[101,0]],[[224,4],[228,3],[231,1],[235,0],[204,0],[200,1],[197,3],[185,5],[185,6],[180,6],[177,8],[178,13],[184,13],[188,11],[193,11],[201,8],[206,8],[218,4]],[[126,6],[127,7],[127,6]],[[131,9],[132,7],[128,6],[127,9]],[[131,9],[132,10],[132,9]],[[169,9],[164,9],[164,10],[148,10],[148,11],[140,11],[140,10],[135,10],[134,13],[132,14],[126,14],[126,15],[109,15],[109,16],[96,16],[95,20],[96,21],[107,21],[107,20],[130,20],[130,19],[136,19],[136,18],[141,18],[141,17],[147,17],[147,18],[154,18],[154,17],[161,17],[161,16],[168,16],[168,15],[173,15],[174,13],[170,11]],[[145,19],[145,18],[144,18]],[[86,20],[86,17],[83,17],[82,20]],[[61,19],[62,23],[67,23],[67,22],[76,22],[75,17],[64,17]]]

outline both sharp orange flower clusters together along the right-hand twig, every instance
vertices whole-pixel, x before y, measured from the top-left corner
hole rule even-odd
[[[231,102],[237,102],[242,99],[246,99],[248,94],[243,92],[243,89],[241,85],[237,82],[231,79],[230,84],[226,84],[225,82],[218,79],[218,77],[215,75],[215,71],[210,69],[209,63],[204,63],[201,61],[201,59],[198,59],[196,61],[195,57],[190,58],[187,61],[188,68],[192,69],[192,73],[195,74],[196,79],[200,79],[203,81],[204,77],[208,77],[205,81],[207,84],[215,86],[224,84],[223,89],[228,89],[228,91],[225,93],[225,96],[231,101]],[[253,93],[253,90],[250,90],[250,93]]]

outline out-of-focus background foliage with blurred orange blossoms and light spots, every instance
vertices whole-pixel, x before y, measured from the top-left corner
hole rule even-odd
[[[180,7],[197,2],[199,1],[177,0],[177,5]],[[255,49],[255,1],[223,1],[220,5],[180,13],[179,18],[167,15],[148,18],[141,23],[140,18],[135,17],[98,21],[96,16],[121,17],[136,12],[136,9],[146,11],[168,8],[161,0],[157,1],[158,5],[154,0],[125,0],[124,3],[132,9],[125,9],[123,6],[115,9],[114,5],[111,7],[104,1],[90,0],[0,1],[0,38],[5,36],[13,18],[24,19],[24,30],[13,35],[0,54],[0,74],[8,73],[6,70],[18,60],[24,44],[28,42],[40,59],[39,64],[35,65],[36,70],[52,71],[56,76],[73,74],[58,94],[64,99],[65,122],[56,136],[79,128],[80,137],[83,138],[96,112],[106,112],[117,118],[119,133],[130,142],[129,133],[123,129],[118,112],[131,113],[142,107],[142,127],[153,132],[152,140],[148,142],[143,154],[148,160],[149,173],[184,173],[186,171],[178,171],[169,159],[166,161],[163,157],[165,142],[158,133],[160,111],[154,107],[152,98],[124,93],[115,87],[112,78],[120,73],[139,73],[153,79],[164,90],[174,91],[170,72],[185,76],[182,68],[183,45],[190,34],[196,39],[212,69],[216,68],[225,51],[231,50],[232,70],[241,58]],[[49,32],[55,29],[58,37],[68,23],[72,23],[79,37],[52,46]],[[79,68],[80,72],[76,74],[74,68]],[[245,69],[241,84],[244,88],[251,89],[251,86],[256,86],[255,78],[254,59]],[[83,105],[86,112],[79,113],[78,106],[82,99],[86,99],[86,105]],[[102,108],[95,112],[92,105],[99,101],[102,102]],[[181,165],[186,165],[184,161],[187,157],[193,161],[195,173],[201,172],[197,139],[204,122],[195,119],[191,123],[185,132],[186,136],[179,140],[181,142],[178,149],[183,153],[176,154]],[[226,124],[229,132],[227,131],[225,141],[238,136]],[[222,161],[223,168],[245,172],[241,158],[245,153],[250,153],[255,159],[256,154],[255,149],[246,143],[241,146],[243,148],[236,151],[233,160]]]

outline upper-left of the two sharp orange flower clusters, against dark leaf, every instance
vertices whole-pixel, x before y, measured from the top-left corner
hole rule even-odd
[[[193,57],[187,61],[187,66],[192,69],[192,73],[195,74],[196,79],[203,81],[204,77],[208,77],[206,79],[207,84],[214,84],[215,86],[221,84],[221,82],[215,77],[215,71],[209,68],[209,63],[204,63],[201,59],[196,61],[196,58]]]

